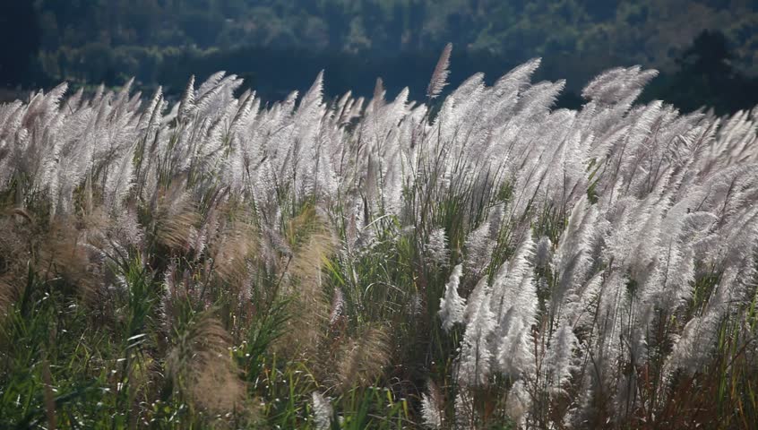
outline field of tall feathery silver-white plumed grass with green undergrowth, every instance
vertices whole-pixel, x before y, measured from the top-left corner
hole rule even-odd
[[[65,84],[0,106],[6,428],[748,428],[756,112]],[[144,102],[144,103],[143,103]]]

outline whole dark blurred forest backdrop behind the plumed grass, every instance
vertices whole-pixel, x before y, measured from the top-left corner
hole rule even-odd
[[[619,65],[661,71],[642,99],[717,113],[758,103],[758,2],[751,0],[12,0],[0,2],[0,100],[71,82],[135,77],[177,97],[190,75],[245,78],[263,99],[306,90],[420,98],[452,42],[451,82],[500,76],[543,57],[538,79],[566,79],[559,106]],[[454,85],[453,85],[454,86]]]

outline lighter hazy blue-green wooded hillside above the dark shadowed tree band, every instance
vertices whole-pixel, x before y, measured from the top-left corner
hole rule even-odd
[[[447,41],[522,61],[571,53],[673,66],[702,30],[758,64],[758,6],[743,0],[36,0],[44,50],[238,45],[394,54]],[[597,62],[597,63],[595,63]],[[609,63],[610,62],[610,63]]]

